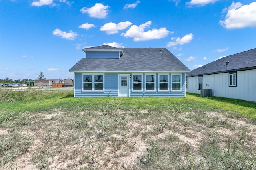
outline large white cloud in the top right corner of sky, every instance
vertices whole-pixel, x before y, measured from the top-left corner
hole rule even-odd
[[[223,12],[226,12],[226,10],[228,10],[228,13],[225,20],[219,22],[224,28],[234,29],[256,26],[256,2],[244,6],[240,2],[233,2]]]

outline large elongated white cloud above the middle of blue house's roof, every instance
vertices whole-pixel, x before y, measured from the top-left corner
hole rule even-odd
[[[149,28],[150,25],[151,21],[141,24],[140,26],[132,25],[126,33],[122,33],[121,35],[124,37],[132,37],[134,41],[146,41],[164,38],[170,33],[166,28],[152,29],[144,32],[144,29]]]

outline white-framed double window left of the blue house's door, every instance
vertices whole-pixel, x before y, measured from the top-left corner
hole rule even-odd
[[[82,74],[82,91],[104,91],[104,74]]]

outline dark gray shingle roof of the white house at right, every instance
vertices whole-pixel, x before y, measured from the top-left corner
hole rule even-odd
[[[227,61],[229,62],[227,65]],[[186,73],[187,77],[256,69],[256,48],[223,57]]]

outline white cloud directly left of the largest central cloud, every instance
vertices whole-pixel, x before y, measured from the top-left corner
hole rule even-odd
[[[130,25],[132,25],[132,22],[130,21],[119,22],[118,24],[108,22],[104,26],[100,27],[100,31],[106,31],[107,34],[116,34],[119,30],[124,30]]]

